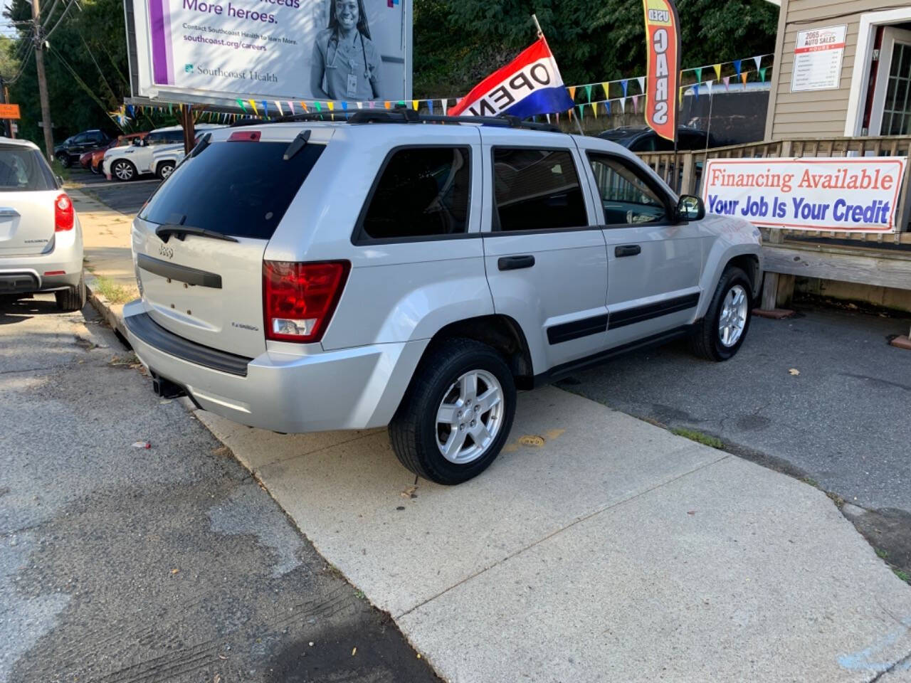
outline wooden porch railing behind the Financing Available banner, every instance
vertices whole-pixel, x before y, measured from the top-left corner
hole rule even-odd
[[[680,194],[701,194],[702,168],[706,158],[775,158],[775,157],[906,157],[911,148],[911,136],[883,138],[794,138],[773,142],[752,142],[747,145],[711,148],[707,151],[640,152],[640,158]],[[890,233],[834,232],[831,230],[773,230],[772,241],[788,237],[816,237],[859,242],[895,242],[911,244],[909,231],[909,183],[911,168],[906,172],[898,208],[899,231]],[[873,246],[873,245],[868,245]]]

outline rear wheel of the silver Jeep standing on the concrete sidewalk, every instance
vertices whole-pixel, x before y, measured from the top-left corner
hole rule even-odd
[[[389,424],[399,462],[436,484],[461,484],[494,462],[516,415],[507,363],[481,342],[452,339],[428,352]]]

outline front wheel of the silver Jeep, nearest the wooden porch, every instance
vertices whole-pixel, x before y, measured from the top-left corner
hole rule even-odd
[[[746,273],[729,266],[722,273],[711,297],[709,310],[693,330],[693,353],[722,362],[740,350],[752,320],[752,285]]]

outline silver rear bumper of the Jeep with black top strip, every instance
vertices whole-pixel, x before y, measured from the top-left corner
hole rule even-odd
[[[267,351],[245,359],[244,376],[230,358],[218,358],[231,354],[209,349],[216,358],[207,358],[206,347],[188,349],[178,335],[157,325],[157,330],[149,328],[141,301],[128,303],[123,315],[129,342],[150,372],[179,384],[210,413],[275,432],[388,424],[428,342],[372,344],[306,356]],[[189,360],[194,352],[197,356]],[[217,369],[220,361],[229,364]]]

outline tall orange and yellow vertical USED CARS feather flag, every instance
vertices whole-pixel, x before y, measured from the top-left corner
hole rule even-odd
[[[649,69],[645,122],[661,138],[677,138],[677,87],[680,78],[680,20],[673,0],[642,0]]]

